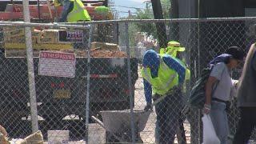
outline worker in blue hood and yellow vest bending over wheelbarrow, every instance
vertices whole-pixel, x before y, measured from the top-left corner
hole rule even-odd
[[[152,109],[153,100],[157,114],[156,143],[173,143],[178,128],[182,98],[175,86],[182,86],[186,67],[169,54],[147,50],[142,61],[142,77],[146,97],[144,110]]]

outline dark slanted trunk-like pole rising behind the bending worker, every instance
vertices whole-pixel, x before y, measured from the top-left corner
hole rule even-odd
[[[154,19],[163,19],[162,15],[162,6],[160,0],[151,0]],[[166,25],[164,22],[156,22],[155,23],[158,34],[158,42],[160,47],[167,46],[167,36],[166,36]]]

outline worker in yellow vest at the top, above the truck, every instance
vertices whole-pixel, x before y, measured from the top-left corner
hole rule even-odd
[[[90,21],[90,15],[81,0],[54,0],[54,6],[63,6],[58,22]]]

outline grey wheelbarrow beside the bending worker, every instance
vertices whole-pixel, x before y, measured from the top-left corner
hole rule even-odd
[[[153,102],[155,106],[163,98]],[[134,133],[135,142],[143,143],[139,132],[144,130],[146,122],[152,110],[134,110]],[[102,121],[92,116],[95,122],[106,130],[106,143],[109,142],[132,142],[130,110],[104,110],[100,111]]]

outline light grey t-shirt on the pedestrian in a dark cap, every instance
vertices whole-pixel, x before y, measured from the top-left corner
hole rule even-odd
[[[219,98],[223,101],[230,101],[230,92],[233,88],[230,70],[224,62],[217,63],[210,76],[218,79],[217,87],[214,88],[213,98]]]

